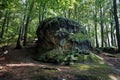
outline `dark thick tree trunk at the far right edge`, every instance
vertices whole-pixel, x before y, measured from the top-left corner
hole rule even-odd
[[[115,28],[116,28],[116,38],[117,38],[117,46],[118,50],[120,51],[120,30],[119,30],[119,21],[117,16],[117,3],[116,0],[113,0],[113,7],[114,7],[114,20],[115,20]]]

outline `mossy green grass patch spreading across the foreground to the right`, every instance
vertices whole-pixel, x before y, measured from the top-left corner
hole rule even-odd
[[[115,74],[105,64],[74,64],[67,71],[39,70],[29,80],[113,80]]]

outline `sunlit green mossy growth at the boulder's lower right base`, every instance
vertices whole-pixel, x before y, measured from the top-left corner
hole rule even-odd
[[[73,63],[94,63],[94,64],[104,64],[104,61],[101,57],[97,56],[94,53],[88,55],[85,54],[69,54],[65,57],[65,64]]]

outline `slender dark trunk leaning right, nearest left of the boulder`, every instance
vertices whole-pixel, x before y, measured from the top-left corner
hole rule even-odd
[[[32,12],[33,6],[34,6],[34,0],[32,0],[32,2],[31,2],[30,8],[29,8],[29,13],[28,13],[28,16],[27,16],[26,24],[25,24],[25,33],[24,33],[23,46],[26,46],[26,42],[27,42],[27,32],[28,32],[28,24],[29,24],[29,22],[30,22],[30,14],[31,14],[31,12]]]

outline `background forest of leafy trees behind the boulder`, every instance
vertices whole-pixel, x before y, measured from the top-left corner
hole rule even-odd
[[[94,47],[117,47],[118,32],[115,18],[120,17],[113,7],[114,0],[1,0],[0,36],[2,43],[17,42],[26,45],[36,37],[39,23],[49,17],[66,17],[86,28]],[[33,7],[34,6],[34,7]],[[114,19],[115,18],[115,19]],[[115,21],[114,21],[115,20]],[[119,22],[119,21],[118,21]],[[117,26],[119,23],[117,23]],[[118,29],[117,29],[118,30]],[[23,37],[24,36],[24,37]],[[24,44],[22,43],[22,37]],[[20,39],[20,40],[19,40]]]

